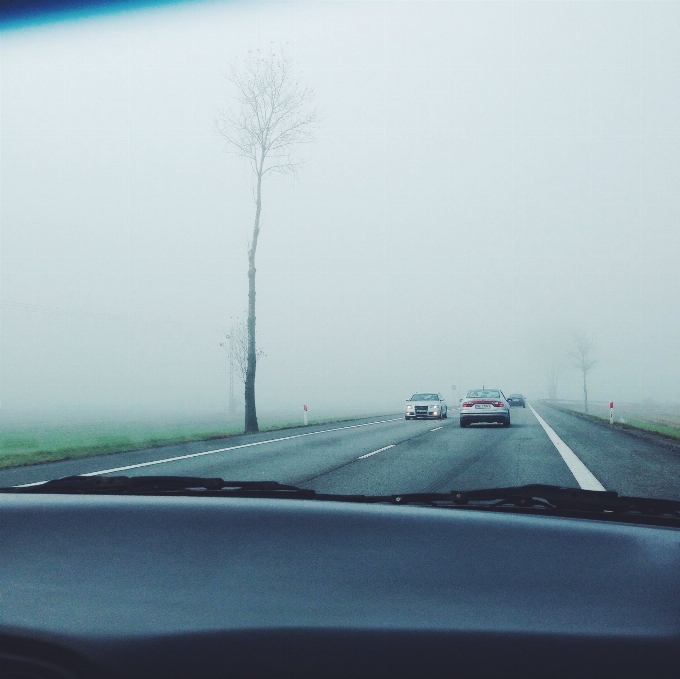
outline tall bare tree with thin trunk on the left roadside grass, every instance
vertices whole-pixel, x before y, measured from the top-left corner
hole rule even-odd
[[[263,56],[249,53],[245,63],[232,64],[229,80],[236,89],[237,110],[227,110],[217,121],[230,153],[245,158],[253,173],[255,224],[248,243],[248,343],[245,368],[245,431],[257,432],[255,408],[255,254],[260,236],[262,180],[272,172],[297,172],[303,160],[301,144],[313,140],[318,121],[312,107],[314,93],[295,78],[293,63],[282,51]]]

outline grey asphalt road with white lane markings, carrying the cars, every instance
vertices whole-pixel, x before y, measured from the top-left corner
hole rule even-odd
[[[407,422],[392,415],[7,469],[0,472],[0,485],[104,472],[276,480],[328,493],[526,483],[578,487],[583,477],[574,464],[582,463],[583,473],[607,490],[680,500],[680,448],[546,406],[534,408],[554,431],[553,440],[531,408],[513,408],[510,428],[461,429],[454,411],[442,421]]]

